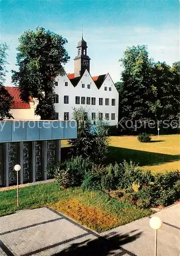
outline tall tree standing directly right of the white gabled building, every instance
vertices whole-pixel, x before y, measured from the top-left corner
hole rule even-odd
[[[135,129],[136,122],[147,122],[151,118],[149,112],[149,99],[151,98],[151,60],[148,58],[146,46],[127,47],[122,63],[122,84],[119,95],[119,114],[124,118],[122,124],[127,120],[128,127]]]

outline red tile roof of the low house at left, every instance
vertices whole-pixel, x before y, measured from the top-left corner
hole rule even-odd
[[[6,87],[6,90],[13,97],[14,102],[11,105],[11,109],[31,109],[30,103],[25,103],[20,98],[20,91],[16,87]],[[32,97],[30,97],[30,102],[33,102]]]

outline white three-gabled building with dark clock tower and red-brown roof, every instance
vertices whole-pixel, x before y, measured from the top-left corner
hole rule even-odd
[[[78,42],[78,55],[74,58],[74,73],[56,78],[55,110],[59,120],[71,120],[73,108],[84,106],[90,119],[118,123],[118,92],[109,73],[92,77],[87,44]]]

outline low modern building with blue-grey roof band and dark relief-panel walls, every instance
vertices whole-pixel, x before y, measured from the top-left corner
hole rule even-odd
[[[0,121],[0,186],[46,180],[48,163],[61,160],[61,140],[77,136],[75,121]]]

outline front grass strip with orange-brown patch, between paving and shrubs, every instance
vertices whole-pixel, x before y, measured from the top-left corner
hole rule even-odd
[[[19,188],[19,208],[16,190],[0,193],[0,216],[19,209],[50,206],[82,225],[97,232],[124,225],[151,214],[130,203],[120,203],[102,192],[83,191],[81,188],[62,190],[55,182]]]

